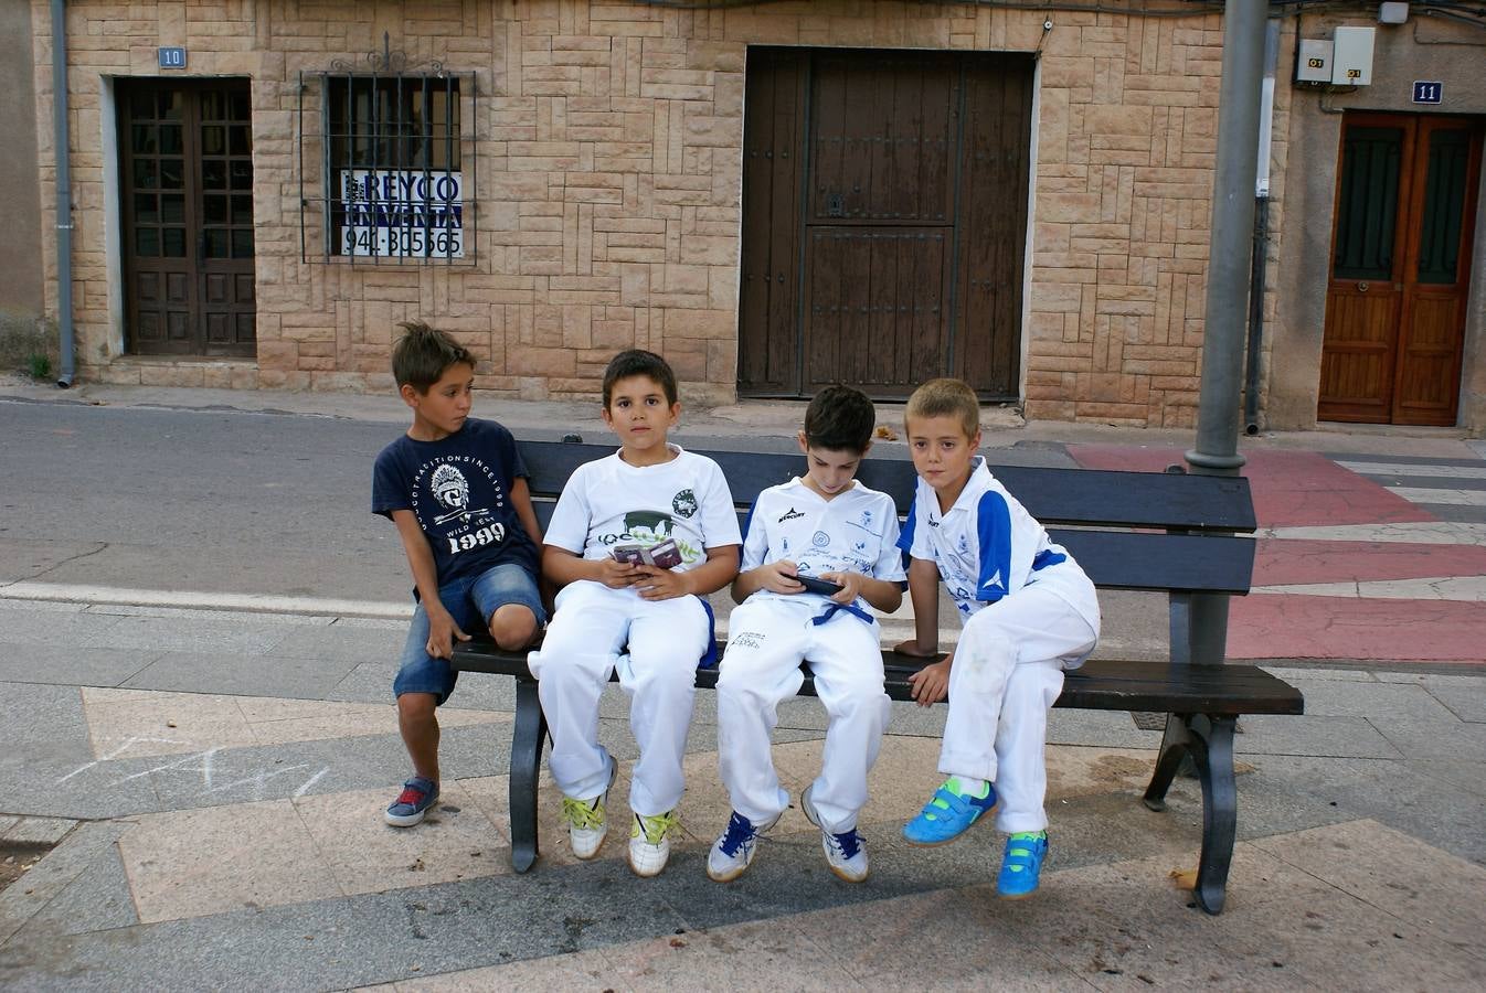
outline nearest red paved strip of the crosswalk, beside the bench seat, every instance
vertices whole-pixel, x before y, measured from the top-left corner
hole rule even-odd
[[[1486,661],[1486,603],[1281,594],[1230,603],[1232,659]]]

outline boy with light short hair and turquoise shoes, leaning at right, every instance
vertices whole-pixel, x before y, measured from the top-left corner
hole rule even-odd
[[[903,655],[939,646],[939,579],[964,623],[960,643],[911,678],[921,707],[950,695],[939,772],[948,775],[903,825],[911,845],[953,842],[1000,807],[1009,837],[996,880],[1005,898],[1037,889],[1048,855],[1048,711],[1100,637],[1094,583],[975,454],[981,407],[960,380],[924,383],[903,414],[918,491],[899,546],[912,558],[915,637]],[[994,782],[994,785],[991,785]]]

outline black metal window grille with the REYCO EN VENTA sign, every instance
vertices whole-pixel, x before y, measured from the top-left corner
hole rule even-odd
[[[300,257],[473,263],[476,153],[461,122],[474,117],[474,74],[409,65],[385,36],[366,64],[300,73]]]

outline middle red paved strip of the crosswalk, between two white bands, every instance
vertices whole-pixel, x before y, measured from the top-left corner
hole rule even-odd
[[[1349,579],[1434,579],[1486,576],[1480,545],[1416,545],[1410,542],[1317,542],[1260,539],[1254,555],[1254,586],[1339,583]]]

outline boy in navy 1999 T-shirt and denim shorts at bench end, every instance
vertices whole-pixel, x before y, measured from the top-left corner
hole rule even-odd
[[[438,800],[435,709],[455,689],[455,640],[481,623],[502,649],[520,649],[545,612],[526,466],[511,432],[470,417],[474,356],[421,321],[398,327],[392,376],[413,425],[376,457],[372,511],[397,524],[418,601],[392,683],[413,776],[385,815],[412,827]]]

